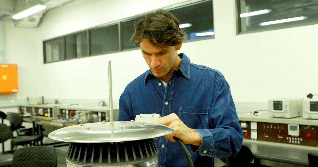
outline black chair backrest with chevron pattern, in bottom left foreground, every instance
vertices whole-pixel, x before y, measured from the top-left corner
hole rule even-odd
[[[12,167],[56,167],[57,157],[54,147],[33,146],[20,148],[14,152]]]

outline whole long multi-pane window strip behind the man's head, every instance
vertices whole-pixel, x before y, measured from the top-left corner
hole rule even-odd
[[[204,0],[167,10],[180,21],[180,27],[186,32],[185,40],[214,37],[212,2],[212,0]],[[44,63],[139,48],[140,46],[133,45],[130,37],[134,34],[135,22],[142,17],[138,16],[116,24],[111,23],[44,41]]]

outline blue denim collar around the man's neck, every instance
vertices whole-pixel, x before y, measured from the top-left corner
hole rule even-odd
[[[182,75],[190,80],[190,59],[184,53],[179,53],[178,56],[181,58],[181,63],[179,68],[175,69],[174,71],[181,71]],[[148,80],[152,77],[155,77],[154,74],[149,69],[146,72],[146,77],[144,83],[146,84]]]

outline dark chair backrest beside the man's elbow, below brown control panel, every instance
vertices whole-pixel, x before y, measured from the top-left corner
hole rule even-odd
[[[235,156],[226,158],[225,166],[250,166],[253,159],[254,156],[251,150],[247,146],[242,145],[240,151]]]

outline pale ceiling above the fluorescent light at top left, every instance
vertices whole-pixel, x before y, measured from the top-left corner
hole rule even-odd
[[[47,11],[69,1],[72,0],[0,0],[0,21],[37,4],[44,4]]]

